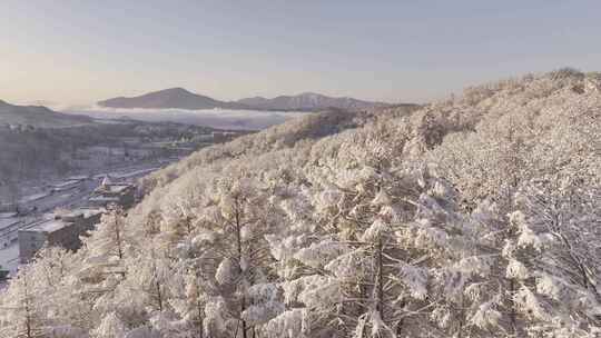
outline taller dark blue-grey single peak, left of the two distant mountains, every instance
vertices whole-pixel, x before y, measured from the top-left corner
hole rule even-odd
[[[190,92],[184,88],[170,88],[149,92],[132,98],[115,98],[98,102],[108,108],[148,108],[148,109],[245,109],[239,103],[225,102]]]

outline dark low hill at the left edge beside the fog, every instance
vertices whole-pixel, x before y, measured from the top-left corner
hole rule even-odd
[[[14,106],[0,100],[0,126],[69,127],[93,122],[92,118],[56,112],[42,106]]]

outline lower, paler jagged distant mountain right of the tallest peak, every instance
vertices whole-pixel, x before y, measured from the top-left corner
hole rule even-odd
[[[260,110],[297,111],[316,111],[325,108],[363,110],[367,108],[388,106],[387,103],[383,102],[363,101],[353,98],[332,98],[315,92],[304,92],[297,96],[279,96],[273,99],[254,97],[242,99],[237,102]]]

